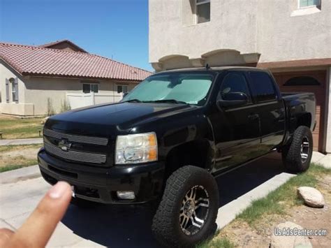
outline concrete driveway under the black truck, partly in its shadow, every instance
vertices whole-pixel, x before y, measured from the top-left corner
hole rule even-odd
[[[292,176],[283,173],[277,153],[219,176],[217,182],[221,202],[218,224],[224,226],[238,211],[247,207],[250,200],[265,196]],[[2,180],[0,227],[18,228],[47,189],[50,185],[41,177]],[[71,205],[48,246],[158,247],[152,238],[151,223],[152,210],[149,205],[93,204],[88,208]]]

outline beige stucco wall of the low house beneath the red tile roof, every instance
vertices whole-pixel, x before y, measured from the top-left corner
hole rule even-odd
[[[19,78],[19,102],[11,99],[6,103],[6,78]],[[130,91],[137,85],[133,82],[117,82],[114,80],[82,80],[70,78],[38,78],[24,76],[13,71],[7,64],[0,64],[0,113],[9,115],[46,115],[47,99],[51,99],[55,112],[60,112],[61,104],[66,99],[66,94],[82,94],[82,84],[98,83],[99,92],[95,94],[96,104],[116,102],[122,99],[122,94],[117,93],[117,85],[128,85]],[[10,88],[11,89],[11,88]],[[66,99],[68,101],[68,99]]]

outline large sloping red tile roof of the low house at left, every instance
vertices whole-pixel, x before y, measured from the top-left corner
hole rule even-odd
[[[22,75],[141,81],[149,71],[85,52],[0,43],[3,59]]]

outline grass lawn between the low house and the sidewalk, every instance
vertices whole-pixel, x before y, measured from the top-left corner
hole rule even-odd
[[[0,115],[0,131],[3,139],[38,138],[39,130],[43,129],[43,117],[20,119]]]

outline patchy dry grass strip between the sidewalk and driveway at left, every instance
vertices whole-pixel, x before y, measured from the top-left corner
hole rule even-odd
[[[0,173],[36,165],[40,147],[41,145],[0,146]]]

